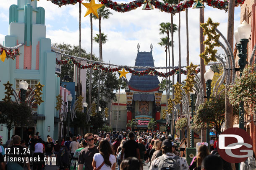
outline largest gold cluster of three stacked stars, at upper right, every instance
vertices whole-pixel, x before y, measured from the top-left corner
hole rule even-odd
[[[204,59],[204,63],[207,65],[210,61],[217,61],[215,55],[217,50],[214,47],[219,47],[220,44],[219,34],[216,32],[216,28],[219,23],[214,23],[211,18],[208,18],[206,23],[201,23],[201,28],[204,29],[204,36],[207,35],[206,40],[204,41],[205,50],[199,56]]]

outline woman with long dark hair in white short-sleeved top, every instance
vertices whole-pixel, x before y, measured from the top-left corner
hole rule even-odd
[[[99,142],[99,153],[94,154],[92,160],[92,167],[94,170],[115,170],[115,155],[107,140]]]

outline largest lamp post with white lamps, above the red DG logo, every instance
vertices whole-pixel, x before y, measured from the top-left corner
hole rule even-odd
[[[240,76],[242,76],[242,71],[245,68],[246,64],[248,63],[246,61],[247,58],[247,43],[248,39],[250,38],[251,35],[251,25],[248,24],[245,20],[243,23],[238,25],[238,29],[235,30],[234,36],[235,36],[235,41],[237,43],[237,48],[238,48],[238,65],[239,65],[239,71],[240,71]],[[243,115],[244,115],[244,109],[243,109],[243,101],[240,101],[239,104],[239,128],[244,129],[244,124],[243,124]]]

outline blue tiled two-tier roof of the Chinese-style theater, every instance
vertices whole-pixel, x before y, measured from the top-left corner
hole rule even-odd
[[[154,67],[154,59],[151,52],[139,52],[136,57],[135,66],[150,66]],[[143,71],[144,69],[134,69],[136,71]],[[139,91],[150,91],[159,87],[159,80],[157,76],[131,76],[128,85]]]

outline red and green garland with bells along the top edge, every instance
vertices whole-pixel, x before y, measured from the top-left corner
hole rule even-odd
[[[130,3],[117,3],[113,2],[112,0],[99,0],[102,4],[104,4],[107,8],[111,8],[117,12],[125,13],[131,10],[135,10],[138,7],[141,7],[144,3],[152,3],[155,8],[158,8],[161,11],[166,13],[179,13],[181,11],[185,11],[187,8],[191,8],[194,0],[188,0],[184,3],[179,3],[178,5],[169,5],[167,3],[162,3],[158,0],[135,0]],[[239,4],[243,4],[245,0],[235,0],[235,6]],[[206,3],[213,8],[218,8],[220,10],[227,10],[228,9],[228,1],[221,1],[221,0],[201,0],[201,2]]]

